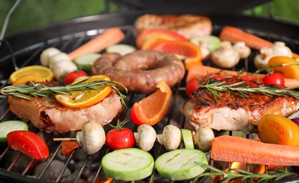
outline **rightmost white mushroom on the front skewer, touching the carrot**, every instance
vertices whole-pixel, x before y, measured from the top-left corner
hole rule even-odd
[[[198,127],[193,133],[194,144],[203,152],[211,150],[214,138],[214,132],[210,127]]]

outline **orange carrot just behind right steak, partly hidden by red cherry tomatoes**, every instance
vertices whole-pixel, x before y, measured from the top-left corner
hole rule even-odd
[[[209,75],[215,75],[215,74],[218,74],[219,72],[220,72],[219,75],[221,75],[221,76],[238,75],[238,71],[234,71],[234,70],[221,70],[219,68],[212,68],[212,67],[205,66],[205,65],[195,65],[193,68],[190,68],[190,70],[188,70],[186,82],[188,82],[189,80],[191,80],[194,77],[205,78],[205,77],[207,77],[207,72],[209,72]],[[248,73],[243,72],[242,75],[248,75]],[[266,75],[258,74],[258,75],[248,75],[248,76],[250,78],[252,78],[252,80],[258,79],[259,81],[262,81],[262,79]],[[228,76],[228,77],[230,77],[230,76]],[[284,85],[286,87],[299,87],[299,80],[284,78]]]

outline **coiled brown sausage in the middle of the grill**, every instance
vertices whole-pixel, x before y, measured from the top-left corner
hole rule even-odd
[[[185,75],[183,61],[170,53],[139,50],[121,56],[104,53],[91,70],[92,75],[106,75],[123,84],[130,93],[149,94],[164,80],[169,87],[181,82]],[[118,87],[124,92],[123,87]]]

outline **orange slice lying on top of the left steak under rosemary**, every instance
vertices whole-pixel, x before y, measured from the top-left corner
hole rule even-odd
[[[84,78],[82,80],[85,80]],[[106,75],[93,75],[90,79],[84,81],[92,82],[96,80],[107,80],[110,81],[110,77]],[[78,80],[76,82],[80,82]],[[68,106],[70,108],[85,108],[92,106],[99,101],[105,99],[112,90],[111,86],[99,86],[99,89],[85,90],[79,92],[69,92],[71,95],[66,94],[56,94],[56,100],[61,103],[63,106]]]

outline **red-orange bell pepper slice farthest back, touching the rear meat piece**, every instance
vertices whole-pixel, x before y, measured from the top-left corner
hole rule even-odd
[[[150,40],[149,40],[150,39]],[[187,41],[185,37],[181,34],[178,34],[171,30],[161,30],[161,29],[146,29],[143,30],[138,37],[136,37],[136,46],[141,49],[145,41],[147,41],[147,46],[143,46],[142,49],[147,49],[153,42],[157,41],[157,39],[164,40],[181,40]]]

